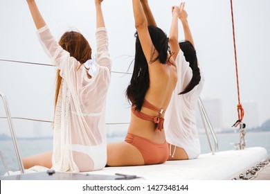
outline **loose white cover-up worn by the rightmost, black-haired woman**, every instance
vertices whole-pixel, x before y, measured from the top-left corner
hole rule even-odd
[[[168,143],[183,148],[188,155],[188,159],[194,159],[201,152],[195,107],[197,106],[199,94],[204,85],[204,76],[200,71],[201,81],[199,85],[195,86],[192,91],[179,95],[190,82],[192,69],[189,67],[189,63],[186,62],[186,58],[181,50],[175,61],[177,64],[178,80],[165,113],[165,136]],[[170,150],[170,155],[173,155],[173,152],[173,150]]]

